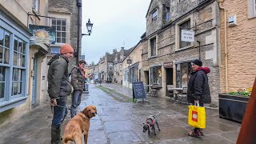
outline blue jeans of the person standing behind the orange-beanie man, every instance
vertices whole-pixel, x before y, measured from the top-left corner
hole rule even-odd
[[[77,107],[81,103],[82,90],[75,90],[72,93],[72,105],[70,110],[70,116],[73,118],[77,114]]]

